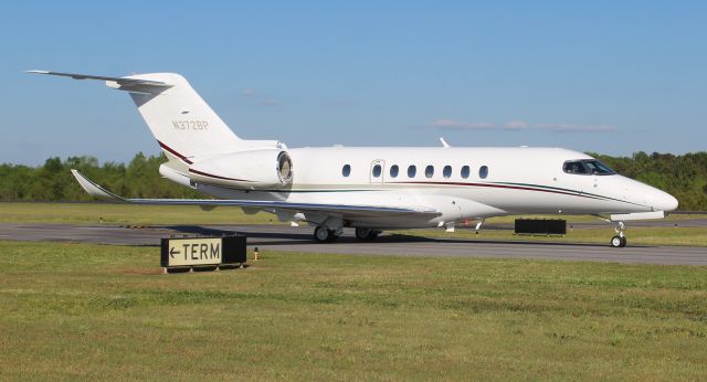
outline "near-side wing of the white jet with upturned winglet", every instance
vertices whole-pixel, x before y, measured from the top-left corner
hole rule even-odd
[[[255,200],[225,200],[225,199],[128,199],[96,184],[84,177],[78,170],[71,170],[78,184],[91,195],[113,202],[155,205],[200,205],[200,206],[243,206],[262,210],[283,210],[293,212],[317,212],[338,216],[358,217],[386,217],[410,215],[415,217],[435,217],[440,215],[434,209],[426,206],[388,208],[377,205],[358,204],[320,204],[320,203],[291,203],[285,201],[255,201]]]

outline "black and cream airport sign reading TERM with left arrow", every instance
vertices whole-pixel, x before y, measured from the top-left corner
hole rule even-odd
[[[162,238],[160,265],[169,268],[243,265],[246,262],[245,236]]]

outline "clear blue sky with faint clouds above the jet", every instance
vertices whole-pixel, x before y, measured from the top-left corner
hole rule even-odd
[[[56,1],[0,6],[0,162],[159,148],[126,94],[22,73],[177,72],[291,147],[707,150],[704,1]]]

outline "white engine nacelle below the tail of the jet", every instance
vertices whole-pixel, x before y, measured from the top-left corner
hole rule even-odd
[[[224,153],[189,168],[189,178],[197,183],[253,190],[287,187],[292,174],[289,155],[278,149]]]

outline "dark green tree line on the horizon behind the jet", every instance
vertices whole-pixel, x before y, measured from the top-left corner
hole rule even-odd
[[[636,152],[631,157],[591,153],[616,172],[675,195],[679,210],[707,211],[707,152]],[[129,163],[98,163],[94,157],[49,158],[43,166],[0,165],[0,201],[89,201],[71,169],[83,172],[106,189],[129,198],[204,198],[189,188],[162,179],[163,153],[139,152]]]

